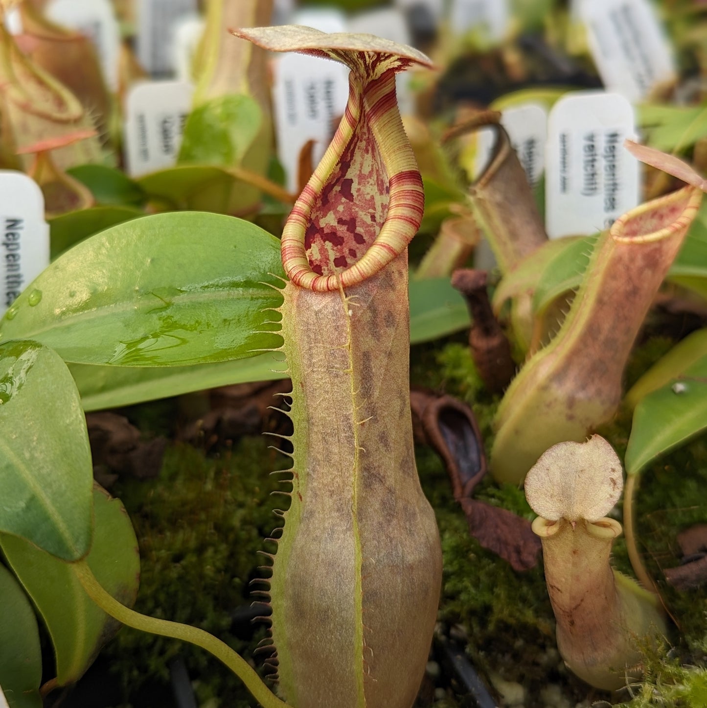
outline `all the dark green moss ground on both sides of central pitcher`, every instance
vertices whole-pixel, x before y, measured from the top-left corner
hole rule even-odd
[[[665,341],[652,341],[639,350],[628,371],[629,383],[667,346]],[[445,390],[473,406],[488,450],[499,399],[483,391],[462,339],[452,338],[442,348],[439,344],[415,347],[412,361],[413,384]],[[629,429],[630,416],[623,413],[599,432],[623,455]],[[159,478],[120,481],[113,489],[125,503],[140,543],[142,579],[136,609],[207,629],[249,658],[261,673],[262,658],[256,661],[253,656],[258,641],[267,635],[267,623],[258,624],[251,636],[234,629],[232,613],[252,602],[249,583],[268,576],[267,570],[258,569],[267,565],[258,551],[273,550],[263,539],[277,525],[272,510],[287,504],[286,497],[271,493],[288,486],[282,486],[281,475],[268,472],[287,469],[288,462],[268,445],[265,438],[243,438],[209,457],[176,443],[168,447]],[[481,548],[470,537],[466,519],[452,498],[442,462],[425,447],[418,447],[417,459],[442,537],[439,631],[466,641],[469,658],[495,687],[500,704],[527,708],[617,702],[631,708],[707,705],[707,674],[701,668],[707,662],[707,593],[703,589],[679,593],[667,586],[661,571],[679,563],[677,532],[707,523],[707,440],[696,440],[643,474],[636,498],[639,542],[679,629],[669,637],[669,649],[659,655],[647,653],[645,683],[616,695],[592,690],[565,668],[556,649],[541,564],[516,573]],[[486,479],[476,497],[533,518],[524,494],[513,486]],[[614,563],[631,574],[622,539],[615,545]],[[166,684],[168,662],[178,654],[190,675],[197,677],[194,686],[200,707],[253,705],[238,679],[199,649],[123,628],[105,652],[125,686],[120,705],[128,705],[130,695],[148,678],[158,677]],[[465,705],[444,676],[428,676],[426,683],[432,688],[420,705]]]

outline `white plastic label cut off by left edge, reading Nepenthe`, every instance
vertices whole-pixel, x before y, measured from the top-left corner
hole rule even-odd
[[[0,170],[0,314],[47,265],[49,224],[42,190],[23,172]]]

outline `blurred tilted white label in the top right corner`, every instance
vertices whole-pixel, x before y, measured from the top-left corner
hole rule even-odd
[[[672,47],[650,0],[582,0],[580,12],[607,91],[636,103],[677,78]]]

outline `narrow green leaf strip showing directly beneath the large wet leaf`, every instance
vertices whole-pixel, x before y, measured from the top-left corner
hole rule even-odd
[[[275,381],[287,376],[272,353],[248,359],[153,368],[70,364],[84,411],[132,406],[143,401],[251,381]]]

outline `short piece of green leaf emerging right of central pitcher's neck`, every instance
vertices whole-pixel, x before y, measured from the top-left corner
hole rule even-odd
[[[449,278],[410,280],[410,343],[438,339],[469,327],[469,309]]]

